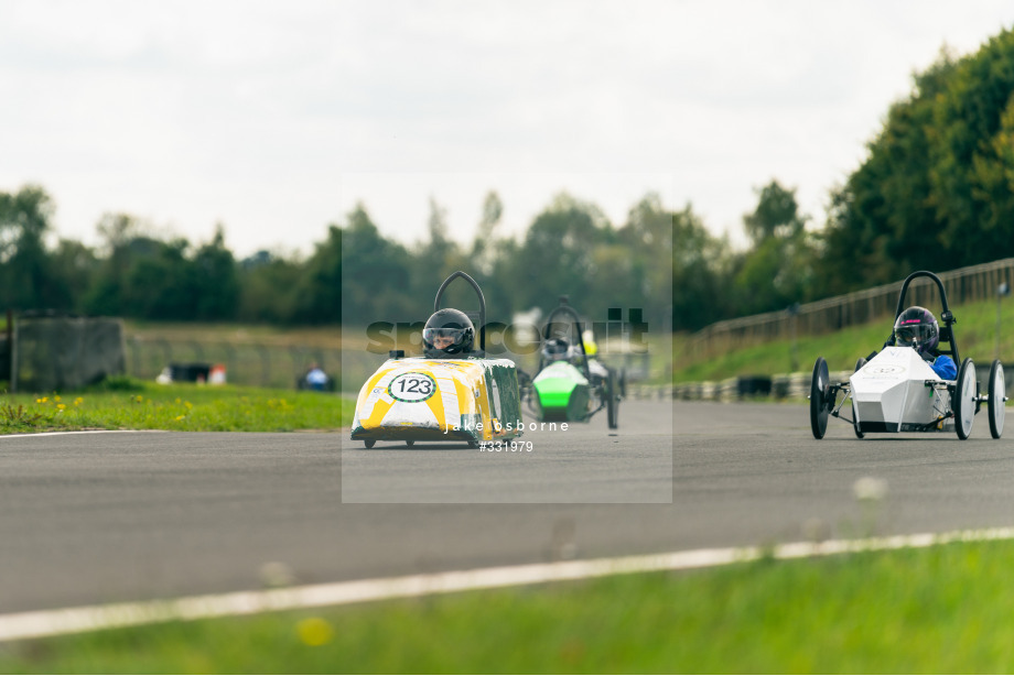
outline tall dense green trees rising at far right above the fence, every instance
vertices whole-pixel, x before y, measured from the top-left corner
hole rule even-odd
[[[1014,33],[941,52],[831,197],[827,295],[1014,255]]]

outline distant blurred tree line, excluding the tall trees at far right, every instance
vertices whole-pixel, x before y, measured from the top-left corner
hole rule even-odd
[[[786,257],[805,260],[805,219],[794,190],[773,181],[758,190],[745,227],[754,242],[733,252],[690,205],[667,210],[647,194],[623,223],[593,203],[559,194],[520,237],[503,233],[504,205],[490,190],[477,209],[470,244],[451,237],[445,210],[431,199],[423,242],[380,233],[366,206],[326,228],[305,258],[260,251],[237,260],[219,226],[211,241],[160,239],[126,214],[97,223],[89,248],[46,244],[55,204],[41,186],[0,193],[0,308],[48,309],[145,320],[279,325],[425,320],[441,282],[464,270],[481,284],[490,317],[539,307],[560,295],[593,321],[619,308],[652,326],[700,328],[735,314],[792,302],[806,283],[779,274]],[[447,303],[473,308],[466,287]]]

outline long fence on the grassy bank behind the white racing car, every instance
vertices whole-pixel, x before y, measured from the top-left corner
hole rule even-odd
[[[943,282],[951,307],[986,301],[996,297],[996,288],[1002,283],[1011,287],[1014,282],[1014,259],[961,268],[937,276]],[[796,313],[786,309],[712,324],[690,337],[688,356],[691,359],[708,358],[769,340],[788,339],[794,331],[823,334],[878,317],[893,317],[903,282],[806,303]],[[920,277],[909,285],[906,305],[923,305],[936,313],[939,307],[938,296],[936,284]]]

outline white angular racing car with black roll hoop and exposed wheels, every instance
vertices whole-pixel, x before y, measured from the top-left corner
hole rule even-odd
[[[979,393],[975,364],[971,359],[960,361],[954,341],[954,315],[947,306],[943,283],[931,272],[914,272],[902,284],[895,317],[900,317],[905,307],[908,284],[917,277],[929,277],[937,284],[943,313],[943,326],[939,330],[938,355],[953,358],[960,363],[956,380],[945,380],[911,347],[898,347],[895,332],[880,353],[867,361],[860,358],[855,371],[844,382],[832,383],[828,362],[818,357],[813,366],[810,384],[810,428],[818,439],[828,429],[828,417],[840,417],[851,422],[855,436],[862,438],[869,432],[957,432],[958,438],[967,439],[972,433],[972,422],[983,402],[989,406],[990,434],[999,439],[1003,434],[1005,384],[1003,366],[994,360],[990,368],[988,394]],[[948,348],[943,348],[943,344]],[[851,399],[852,419],[842,416],[841,410]]]

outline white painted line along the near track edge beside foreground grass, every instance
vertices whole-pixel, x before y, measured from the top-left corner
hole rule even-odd
[[[630,573],[688,570],[756,560],[828,556],[848,552],[878,552],[920,548],[954,542],[1014,539],[1014,527],[950,533],[921,533],[871,539],[839,539],[823,543],[790,543],[770,548],[742,547],[692,549],[645,556],[600,558],[552,564],[531,564],[456,570],[430,575],[411,575],[288,587],[263,591],[238,591],[223,595],[185,597],[165,601],[86,606],[57,610],[0,614],[0,641],[40,639],[103,629],[136,626],[173,620],[197,620],[247,615],[259,612],[344,606],[386,599],[538,585],[561,580],[604,577]]]

